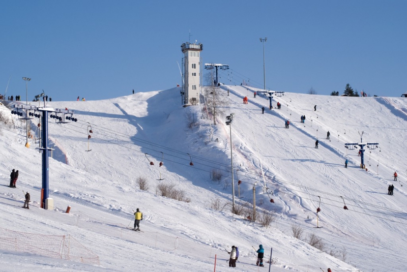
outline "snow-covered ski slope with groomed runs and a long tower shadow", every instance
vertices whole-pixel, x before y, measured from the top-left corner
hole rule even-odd
[[[229,126],[224,123],[225,116],[218,116],[216,126],[211,122],[214,134],[209,141],[211,128],[207,114],[201,110],[204,105],[183,108],[179,88],[101,101],[48,102],[49,107],[74,110],[78,122],[57,124],[49,119],[50,144],[56,145],[55,159],[49,160],[50,197],[56,208],[47,213],[57,215],[71,205],[74,211],[88,216],[88,221],[97,218],[126,226],[133,224],[133,210],[140,208],[144,216],[140,228],[146,233],[180,237],[197,248],[218,250],[220,256],[224,248],[238,246],[242,263],[238,262],[236,269],[245,271],[256,269],[244,260],[253,258],[255,262],[252,246],[259,244],[266,251],[272,247],[273,258],[280,264],[331,267],[333,271],[399,271],[405,267],[406,99],[285,93],[273,97],[273,107],[278,101],[281,109],[268,110],[268,98],[253,98],[253,92],[259,89],[226,85],[221,89],[225,90],[222,95],[226,102],[222,109],[226,114],[236,114],[231,125],[235,186],[238,178],[242,180],[242,198],[236,202],[251,203],[253,184],[257,182],[256,206],[277,213],[270,228],[228,210],[210,208],[214,199],[231,201]],[[245,96],[248,104],[243,104]],[[13,103],[5,102],[9,107]],[[262,106],[265,114],[261,114]],[[16,118],[9,109],[2,106],[1,110],[9,118]],[[300,116],[304,114],[302,124]],[[287,119],[289,129],[284,128]],[[190,126],[193,122],[195,126]],[[32,124],[33,131],[36,123]],[[72,226],[60,222],[59,216],[35,212],[35,206],[30,211],[19,208],[23,203],[21,190],[30,191],[34,205],[39,202],[41,154],[35,149],[38,143],[24,147],[25,124],[18,120],[15,124],[15,128],[2,124],[1,129],[3,183],[8,184],[13,168],[20,175],[18,189],[0,188],[0,227],[53,235],[69,233],[99,256],[100,265],[0,251],[2,269],[37,271],[47,265],[61,271],[213,269],[213,259],[124,240],[114,236],[113,229],[109,235],[109,225],[103,225],[103,231],[93,227],[95,224]],[[93,133],[88,141],[89,129]],[[327,131],[330,140],[326,139]],[[365,152],[368,171],[360,169],[357,149],[344,148],[344,143],[360,142],[362,132],[363,142],[377,142],[380,147]],[[346,158],[348,168],[344,168]],[[163,166],[159,167],[161,160]],[[213,169],[221,171],[220,182],[211,180]],[[393,182],[394,171],[400,183]],[[164,180],[157,180],[160,175]],[[149,180],[149,191],[138,189],[136,179],[140,176]],[[184,190],[191,201],[157,196],[155,188],[160,183]],[[395,187],[393,196],[387,195],[390,184]],[[274,203],[270,203],[270,197]],[[343,209],[343,201],[348,210]],[[318,226],[323,228],[316,229],[318,206]],[[346,263],[292,237],[293,224],[300,225],[306,235],[321,237],[328,251],[345,248]],[[225,262],[219,265],[222,271],[231,270]]]

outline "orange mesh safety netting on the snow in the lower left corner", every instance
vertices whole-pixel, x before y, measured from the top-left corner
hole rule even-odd
[[[71,235],[43,235],[0,228],[0,248],[46,257],[99,264],[99,257]]]

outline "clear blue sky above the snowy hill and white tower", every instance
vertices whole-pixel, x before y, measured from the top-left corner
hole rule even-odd
[[[220,82],[285,92],[407,91],[407,1],[2,1],[0,93],[98,100],[181,83],[182,43]],[[232,80],[232,81],[230,81]]]

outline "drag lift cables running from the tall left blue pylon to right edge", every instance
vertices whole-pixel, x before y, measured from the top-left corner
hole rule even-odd
[[[50,123],[50,124],[53,124],[53,123]],[[55,125],[55,124],[53,124],[53,125]],[[67,128],[67,129],[68,129],[68,128]],[[78,133],[83,133],[83,132],[81,132],[81,131],[76,131],[76,130],[73,130],[73,131],[78,132]],[[95,137],[95,138],[97,138],[97,137]],[[100,139],[100,140],[103,140],[103,141],[106,141],[106,142],[109,142],[109,143],[117,144],[117,145],[122,146],[122,147],[124,147],[124,148],[131,149],[131,150],[134,150],[134,151],[136,151],[136,152],[142,153],[140,150],[136,150],[136,149],[130,148],[130,147],[128,147],[128,146],[124,146],[124,145],[121,145],[121,144],[118,144],[118,143],[115,143],[115,142],[111,142],[111,141],[109,141],[109,140],[105,140],[105,139],[102,139],[102,138],[97,138],[97,139]],[[130,143],[130,142],[129,142],[129,143]],[[154,156],[154,155],[150,155],[150,156],[156,157],[156,158],[158,158],[158,159],[160,158],[159,156]],[[176,161],[171,161],[171,160],[167,160],[167,161],[173,162],[173,163],[177,163],[177,164],[180,164],[180,165],[184,165],[184,164],[182,164],[182,163],[180,163],[180,162],[176,162]],[[203,164],[202,164],[202,165],[203,165]],[[205,170],[205,169],[200,169],[200,168],[196,168],[196,169],[197,169],[197,170],[201,170],[201,171],[205,171],[205,172],[208,172],[208,173],[211,173],[211,171],[208,171],[208,170]],[[223,169],[220,169],[220,170],[223,170]],[[224,170],[223,170],[223,171],[224,171]],[[226,176],[226,175],[221,175],[221,176],[223,176],[223,177],[225,177],[225,178],[230,178],[229,176]],[[254,177],[251,178],[251,179],[260,181],[259,179],[254,178]],[[333,196],[333,197],[341,197],[341,196],[339,196],[339,195],[334,195],[334,194],[331,194],[331,193],[323,192],[323,191],[321,191],[321,190],[311,189],[311,188],[304,187],[304,186],[300,186],[300,185],[297,185],[297,184],[288,183],[288,182],[285,182],[285,181],[283,181],[283,180],[278,180],[278,179],[274,179],[274,180],[277,180],[277,181],[279,181],[279,182],[282,183],[282,184],[290,184],[290,185],[297,186],[297,187],[300,187],[300,188],[304,188],[304,189],[307,189],[307,190],[312,190],[312,191],[316,191],[316,192],[319,192],[319,193],[324,193],[324,194],[327,194],[327,195],[330,195],[330,196]],[[247,183],[247,182],[245,182],[245,183]],[[274,186],[281,186],[281,185],[276,185],[276,184],[271,183],[271,182],[266,182],[266,183],[272,184],[272,185],[274,185]],[[250,184],[250,185],[251,185],[251,183],[247,183],[247,184]],[[290,188],[290,190],[297,191],[297,192],[304,193],[304,194],[308,194],[308,195],[313,195],[313,194],[311,194],[311,193],[304,192],[304,191],[300,191],[300,190],[296,190],[296,189],[292,189],[292,188]],[[286,193],[286,192],[284,192],[284,193]],[[293,195],[294,195],[294,194],[293,194]],[[295,196],[296,196],[296,195],[295,195]],[[342,198],[343,198],[343,197],[342,197]],[[327,199],[328,199],[328,198],[327,198]],[[385,210],[389,210],[389,211],[395,211],[396,213],[403,213],[402,211],[398,211],[398,210],[394,210],[394,209],[389,209],[389,208],[385,208],[385,207],[381,207],[381,206],[377,206],[377,205],[373,205],[373,204],[370,204],[370,203],[366,203],[366,202],[363,202],[363,201],[354,200],[354,199],[351,199],[351,198],[346,198],[346,199],[347,199],[347,200],[354,201],[354,202],[362,203],[362,204],[365,204],[365,205],[368,205],[368,206],[373,206],[373,207],[376,207],[376,208],[381,208],[381,209],[385,209]],[[330,199],[330,200],[331,200],[331,199]],[[335,201],[335,200],[331,200],[331,201]],[[340,202],[340,201],[335,201],[335,202]],[[372,211],[374,211],[374,210],[372,210]]]

